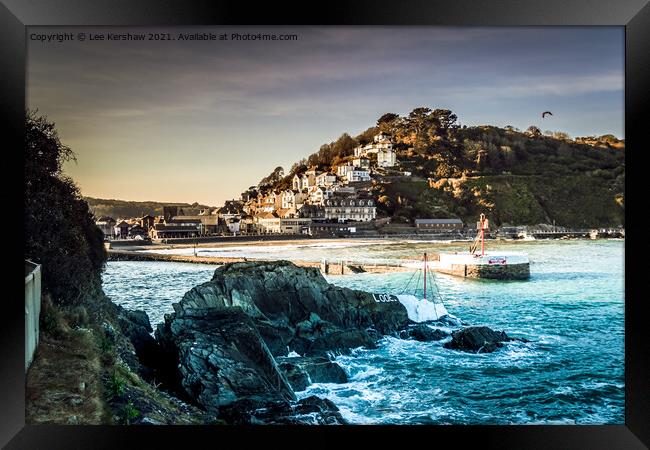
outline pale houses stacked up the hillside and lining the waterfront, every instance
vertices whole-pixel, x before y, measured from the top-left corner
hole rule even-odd
[[[221,208],[194,209],[172,205],[163,207],[163,214],[157,217],[144,215],[115,220],[104,216],[96,223],[109,239],[354,232],[355,224],[373,221],[377,216],[368,183],[372,180],[373,168],[390,168],[396,164],[390,136],[379,133],[373,142],[355,148],[354,157],[336,167],[336,173],[320,172],[314,167],[296,173],[291,189],[229,200]],[[457,226],[456,222],[416,224],[417,228]]]

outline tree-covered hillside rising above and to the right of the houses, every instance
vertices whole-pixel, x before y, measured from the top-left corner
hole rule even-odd
[[[460,127],[456,115],[442,109],[384,114],[358,136],[344,133],[322,145],[288,173],[276,168],[257,188],[287,189],[294,174],[312,166],[336,173],[356,146],[379,132],[392,136],[398,161],[373,170],[379,217],[408,223],[457,216],[472,223],[485,212],[497,225],[625,223],[624,140],[611,134],[572,139],[535,126]]]

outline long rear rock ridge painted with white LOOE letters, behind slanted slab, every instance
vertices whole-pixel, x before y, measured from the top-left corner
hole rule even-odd
[[[376,339],[366,329],[380,336],[410,323],[401,303],[330,285],[317,268],[288,261],[225,264],[174,310],[234,306],[251,317],[274,356],[372,347]]]

